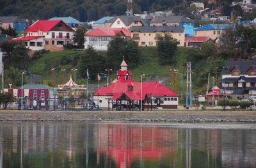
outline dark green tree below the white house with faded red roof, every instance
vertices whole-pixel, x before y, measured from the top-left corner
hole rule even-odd
[[[97,74],[104,71],[104,58],[92,46],[88,46],[85,55],[81,57],[78,69],[79,75],[84,78],[87,77],[86,71],[88,70],[90,80],[95,80]]]

